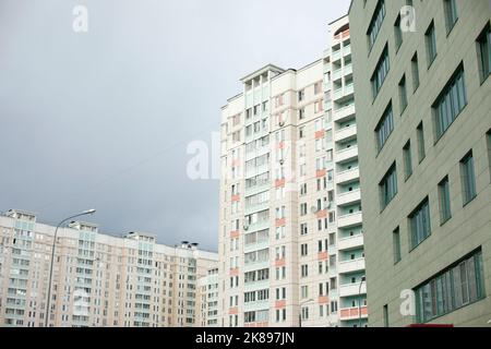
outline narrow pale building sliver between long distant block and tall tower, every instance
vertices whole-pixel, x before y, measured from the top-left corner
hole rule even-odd
[[[208,274],[197,280],[196,325],[200,327],[218,327],[218,268],[208,269]]]

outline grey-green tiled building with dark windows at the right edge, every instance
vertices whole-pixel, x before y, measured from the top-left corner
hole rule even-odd
[[[490,5],[351,2],[370,325],[491,320]]]

